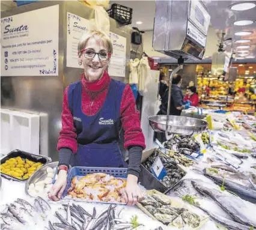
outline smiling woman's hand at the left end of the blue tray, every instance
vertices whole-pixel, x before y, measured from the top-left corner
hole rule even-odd
[[[58,179],[53,184],[52,189],[48,193],[49,199],[52,201],[59,201],[61,199],[62,193],[67,186],[67,171],[60,170],[58,174]]]

